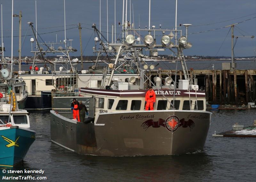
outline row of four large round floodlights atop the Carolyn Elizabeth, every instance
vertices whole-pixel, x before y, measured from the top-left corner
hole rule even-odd
[[[129,47],[132,46],[135,42],[135,37],[132,34],[129,34],[126,36],[125,38],[125,44]],[[171,36],[169,35],[164,35],[162,37],[162,45],[168,49],[172,48],[174,46],[174,43],[171,42]],[[152,35],[146,35],[144,37],[144,44],[150,48],[153,49],[154,47],[156,47],[156,41],[154,40]],[[187,37],[185,36],[181,36],[179,39],[179,45],[180,47],[184,48],[184,49],[189,49],[192,47],[192,44],[187,42]]]

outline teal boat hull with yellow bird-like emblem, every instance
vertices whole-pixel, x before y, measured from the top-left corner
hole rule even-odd
[[[0,129],[0,166],[13,167],[23,161],[35,141],[36,133],[29,129],[11,126]]]

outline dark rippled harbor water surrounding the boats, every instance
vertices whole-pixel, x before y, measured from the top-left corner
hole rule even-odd
[[[204,151],[137,157],[78,155],[51,142],[49,110],[31,111],[29,117],[36,141],[23,165],[14,169],[42,169],[43,175],[32,176],[45,176],[47,181],[255,181],[256,140],[212,136],[231,130],[235,123],[252,125],[255,110],[212,110]]]

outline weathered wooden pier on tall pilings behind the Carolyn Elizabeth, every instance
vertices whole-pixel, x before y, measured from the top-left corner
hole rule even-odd
[[[153,81],[155,76],[175,79],[175,70],[153,70],[148,77]],[[196,75],[199,89],[205,90],[209,104],[245,104],[256,100],[256,70],[188,70],[190,78]],[[183,77],[177,71],[177,80]],[[183,77],[184,79],[184,77]],[[153,81],[154,82],[154,81]],[[148,86],[150,86],[149,83]]]

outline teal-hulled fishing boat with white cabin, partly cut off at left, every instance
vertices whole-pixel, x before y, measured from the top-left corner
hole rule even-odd
[[[1,69],[0,80],[10,88],[8,103],[3,99],[6,93],[0,94],[0,167],[13,167],[23,161],[36,133],[29,129],[28,112],[19,109],[15,94],[18,87],[15,87],[16,79],[12,78],[12,72]]]

